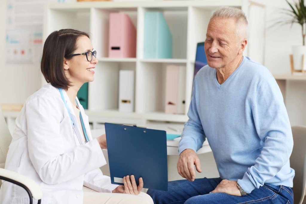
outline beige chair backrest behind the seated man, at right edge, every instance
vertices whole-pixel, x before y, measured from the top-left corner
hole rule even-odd
[[[305,196],[306,183],[306,126],[293,126],[293,151],[290,166],[295,170],[293,178],[294,203],[301,204]]]

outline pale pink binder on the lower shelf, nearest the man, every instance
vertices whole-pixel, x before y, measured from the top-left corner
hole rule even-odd
[[[165,113],[178,113],[178,80],[179,66],[168,65],[166,67],[166,96]]]

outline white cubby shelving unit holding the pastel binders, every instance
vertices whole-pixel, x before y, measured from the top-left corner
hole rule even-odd
[[[253,1],[254,2],[254,1]],[[237,7],[248,15],[248,0],[76,2],[46,6],[43,38],[62,28],[89,32],[99,63],[89,83],[88,110],[93,123],[164,121],[184,123],[191,100],[196,44],[205,40],[209,19],[220,6]],[[162,11],[173,37],[173,59],[143,59],[144,14]],[[126,13],[137,29],[136,58],[108,58],[109,14]],[[185,114],[165,114],[165,67],[186,67]],[[118,111],[119,70],[135,71],[135,112]],[[116,121],[113,121],[116,118]],[[115,119],[114,119],[115,120]]]

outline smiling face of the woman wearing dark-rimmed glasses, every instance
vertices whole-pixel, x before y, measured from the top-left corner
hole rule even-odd
[[[72,85],[82,86],[84,83],[94,80],[94,69],[98,60],[93,52],[90,39],[87,36],[79,36],[76,40],[76,50],[72,54],[74,56],[70,59],[64,58],[65,76]]]

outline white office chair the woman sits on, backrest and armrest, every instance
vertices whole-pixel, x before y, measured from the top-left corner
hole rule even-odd
[[[11,143],[12,136],[9,133],[6,122],[4,120],[2,109],[0,107],[0,179],[14,183],[27,191],[30,204],[33,203],[33,198],[38,200],[38,204],[41,202],[43,192],[39,185],[32,179],[18,174],[13,171],[4,169],[6,155],[9,150],[9,144]],[[0,182],[1,187],[2,182]]]

